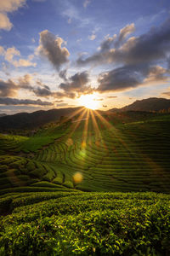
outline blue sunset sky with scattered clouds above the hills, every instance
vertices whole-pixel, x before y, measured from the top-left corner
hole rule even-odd
[[[0,113],[170,98],[169,0],[0,1]]]

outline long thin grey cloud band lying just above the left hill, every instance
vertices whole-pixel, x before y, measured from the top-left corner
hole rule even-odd
[[[0,97],[1,105],[38,105],[38,106],[53,106],[52,102],[42,102],[41,100],[15,99],[9,97]]]

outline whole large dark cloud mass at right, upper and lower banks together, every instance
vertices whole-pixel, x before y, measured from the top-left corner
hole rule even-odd
[[[127,38],[134,31],[133,23],[120,30],[118,37],[105,38],[98,52],[79,65],[114,64],[117,67],[99,74],[99,92],[122,91],[137,86],[166,83],[169,77],[170,19],[139,37]],[[164,66],[161,67],[160,63]]]

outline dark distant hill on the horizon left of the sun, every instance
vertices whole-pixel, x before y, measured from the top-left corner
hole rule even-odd
[[[33,113],[15,113],[0,118],[0,130],[5,129],[34,129],[60,119],[61,116],[69,116],[82,107],[59,108],[48,111],[36,111]]]

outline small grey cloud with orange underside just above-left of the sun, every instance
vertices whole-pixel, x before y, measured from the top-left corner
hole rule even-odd
[[[74,94],[77,93],[78,95],[86,94],[92,91],[92,88],[87,85],[88,82],[87,72],[76,73],[67,82],[59,84],[59,88],[64,90],[66,94],[70,94],[71,92]]]

